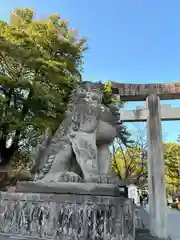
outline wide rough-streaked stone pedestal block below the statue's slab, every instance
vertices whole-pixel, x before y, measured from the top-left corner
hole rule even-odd
[[[0,192],[1,234],[16,239],[134,240],[134,206],[124,197]]]

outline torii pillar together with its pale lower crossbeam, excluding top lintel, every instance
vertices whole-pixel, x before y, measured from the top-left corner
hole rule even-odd
[[[180,120],[180,107],[172,108],[169,104],[160,105],[157,94],[146,96],[144,100],[146,100],[145,107],[122,110],[121,120],[123,122],[147,122],[150,230],[156,237],[167,238],[161,121]]]

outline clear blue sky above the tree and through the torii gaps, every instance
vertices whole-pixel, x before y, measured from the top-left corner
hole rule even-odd
[[[180,81],[180,1],[178,0],[1,0],[0,18],[16,7],[32,7],[38,18],[59,13],[88,38],[84,79],[123,83]],[[180,106],[180,101],[163,101]],[[133,109],[143,103],[130,103]],[[135,124],[145,126],[144,124]],[[134,131],[134,124],[129,127]],[[180,122],[164,122],[167,141]]]

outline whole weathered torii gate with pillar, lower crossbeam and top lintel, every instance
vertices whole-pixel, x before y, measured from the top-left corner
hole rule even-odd
[[[180,108],[160,107],[161,100],[180,99],[180,83],[111,83],[122,101],[146,101],[146,109],[121,112],[124,122],[147,121],[149,223],[153,236],[167,238],[167,203],[162,146],[162,120],[180,120]]]

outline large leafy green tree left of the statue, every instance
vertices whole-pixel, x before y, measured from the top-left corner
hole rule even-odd
[[[58,15],[34,20],[32,9],[15,9],[9,23],[0,21],[0,32],[0,165],[6,165],[25,142],[61,122],[81,81],[86,40]]]

